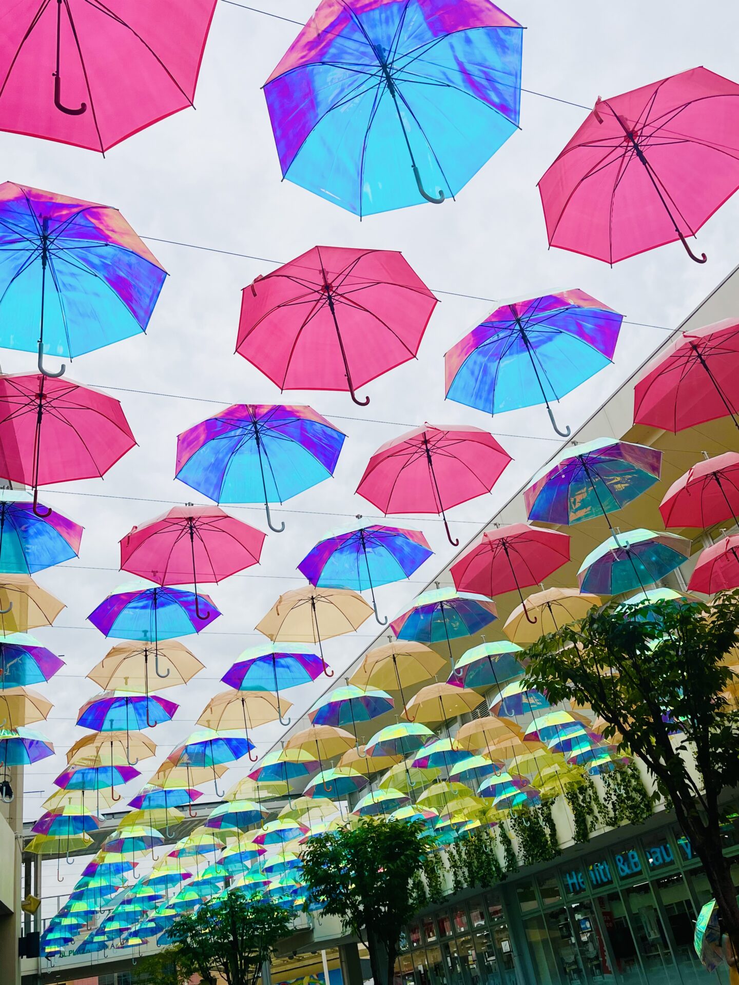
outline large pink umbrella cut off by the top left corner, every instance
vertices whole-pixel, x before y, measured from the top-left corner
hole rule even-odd
[[[215,8],[216,0],[8,5],[0,130],[104,152],[191,106]]]

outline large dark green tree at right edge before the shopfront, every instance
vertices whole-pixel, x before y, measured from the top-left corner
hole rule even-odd
[[[526,651],[526,684],[589,704],[646,765],[704,864],[739,953],[739,906],[723,855],[721,795],[739,783],[739,713],[723,693],[739,662],[739,592],[713,604],[662,601],[591,610]],[[734,653],[732,654],[732,651]],[[686,755],[686,754],[692,754]],[[691,764],[693,759],[693,765]]]

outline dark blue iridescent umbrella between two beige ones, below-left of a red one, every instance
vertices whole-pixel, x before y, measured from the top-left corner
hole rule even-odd
[[[473,636],[498,619],[493,599],[472,592],[457,592],[452,587],[422,592],[413,608],[398,616],[390,628],[398,639],[424,643],[446,641],[452,658],[451,640]]]

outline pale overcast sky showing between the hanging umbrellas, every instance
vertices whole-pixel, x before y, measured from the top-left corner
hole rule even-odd
[[[254,0],[254,5],[300,21],[313,9],[312,0]],[[527,28],[524,87],[585,106],[598,96],[614,96],[696,65],[729,78],[739,72],[739,6],[734,3],[713,0],[699,10],[687,0],[621,0],[618,5],[511,0],[505,9]],[[104,481],[44,492],[50,505],[84,525],[85,534],[79,561],[37,576],[67,605],[53,628],[36,633],[64,654],[66,667],[42,689],[55,702],[41,728],[57,755],[27,770],[29,818],[38,815],[66,750],[83,734],[74,724],[77,708],[98,690],[85,675],[111,642],[87,623],[87,616],[127,578],[118,571],[118,540],[133,524],[168,505],[192,498],[204,501],[172,478],[175,435],[227,404],[280,400],[272,383],[234,355],[240,289],[257,274],[316,243],[387,247],[402,250],[425,282],[439,291],[503,299],[580,288],[630,320],[673,327],[736,263],[736,197],[701,232],[698,249],[708,255],[703,267],[692,263],[680,244],[614,269],[549,251],[536,182],[582,121],[584,110],[526,93],[521,131],[455,203],[406,209],[360,223],[302,188],[281,182],[260,87],[297,32],[292,24],[221,0],[203,59],[196,111],[164,120],[114,148],[104,160],[88,151],[0,134],[5,178],[113,205],[144,236],[264,258],[247,260],[149,241],[169,277],[148,334],[68,367],[73,379],[107,388],[121,399],[138,447]],[[287,529],[267,538],[260,567],[213,588],[223,616],[199,637],[184,640],[206,669],[187,689],[166,692],[180,703],[180,710],[171,724],[151,733],[160,757],[193,730],[208,697],[225,689],[220,678],[238,654],[263,639],[253,627],[278,595],[304,583],[296,565],[313,544],[357,513],[376,515],[354,490],[381,443],[425,421],[490,427],[500,437],[515,461],[493,495],[452,510],[452,526],[462,543],[557,447],[543,408],[505,414],[491,426],[477,411],[444,403],[442,355],[493,304],[438,296],[418,361],[364,388],[371,398],[367,409],[355,407],[346,394],[286,394],[287,402],[310,404],[346,431],[336,476],[291,500],[283,510],[275,509]],[[625,325],[615,364],[566,398],[559,420],[574,429],[664,334]],[[6,371],[32,370],[35,364],[30,354],[2,352],[0,359]],[[259,507],[234,512],[264,527]],[[436,519],[420,518],[417,525],[437,554],[410,583],[377,592],[381,610],[390,617],[410,602],[452,551]],[[354,636],[327,644],[337,672],[354,661],[373,632],[371,621]],[[309,693],[295,696],[296,711],[309,699]],[[262,752],[276,735],[269,728],[263,731],[256,737]],[[142,763],[142,781],[158,762]],[[233,771],[225,777],[227,785],[238,775]],[[131,789],[129,796],[134,793]],[[70,891],[76,870],[69,870],[65,886],[59,887],[62,891]]]

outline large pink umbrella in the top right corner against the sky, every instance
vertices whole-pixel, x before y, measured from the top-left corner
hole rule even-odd
[[[539,181],[550,246],[617,263],[695,236],[739,187],[739,86],[694,68],[598,99]]]

